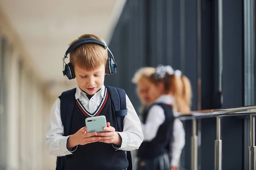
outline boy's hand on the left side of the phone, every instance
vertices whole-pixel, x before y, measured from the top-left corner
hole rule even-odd
[[[93,142],[99,142],[101,139],[100,136],[97,136],[96,132],[87,133],[87,127],[84,126],[79,129],[75,134],[71,135],[67,139],[67,149],[71,149],[76,145],[84,145]],[[92,137],[93,136],[93,137]]]

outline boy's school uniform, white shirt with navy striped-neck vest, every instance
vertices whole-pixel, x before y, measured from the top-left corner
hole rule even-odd
[[[116,117],[109,97],[108,89],[102,88],[93,96],[76,88],[76,105],[71,121],[71,134],[85,126],[85,119],[104,115],[107,122],[117,129]],[[143,141],[140,120],[131,101],[126,95],[127,115],[123,121],[123,132],[117,132],[122,138],[118,148],[113,144],[95,142],[78,145],[67,149],[67,139],[61,122],[60,99],[56,99],[50,113],[50,127],[46,133],[46,146],[49,153],[55,156],[65,156],[65,170],[123,170],[128,167],[125,151],[138,149]]]

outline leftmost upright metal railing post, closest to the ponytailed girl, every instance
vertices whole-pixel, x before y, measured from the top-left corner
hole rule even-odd
[[[191,170],[198,169],[198,141],[196,135],[196,119],[192,120],[192,137],[191,137]]]

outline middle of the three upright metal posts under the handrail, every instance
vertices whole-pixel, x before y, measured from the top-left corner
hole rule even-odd
[[[221,170],[221,153],[222,153],[222,141],[221,141],[221,118],[216,117],[216,140],[215,140],[215,158],[214,158],[214,170]]]

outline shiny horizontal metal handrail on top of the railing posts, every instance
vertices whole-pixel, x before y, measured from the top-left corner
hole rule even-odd
[[[203,111],[192,111],[189,114],[178,113],[180,120],[192,120],[192,119],[204,119],[210,117],[223,117],[223,116],[246,116],[256,114],[256,105],[243,106],[237,108],[226,108],[226,109],[213,109]]]

